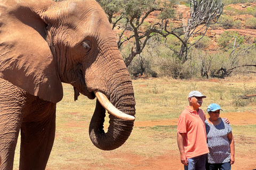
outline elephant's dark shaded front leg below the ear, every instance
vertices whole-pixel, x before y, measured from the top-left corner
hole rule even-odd
[[[37,111],[23,118],[20,170],[45,169],[52,150],[56,104],[42,100],[40,106]]]

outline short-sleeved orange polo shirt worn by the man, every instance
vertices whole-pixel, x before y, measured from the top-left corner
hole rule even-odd
[[[177,133],[185,133],[183,144],[188,158],[209,152],[206,142],[205,119],[202,109],[198,109],[197,113],[189,109],[188,106],[179,116]]]

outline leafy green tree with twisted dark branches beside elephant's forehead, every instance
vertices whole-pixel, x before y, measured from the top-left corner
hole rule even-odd
[[[125,57],[126,66],[129,66],[136,55],[142,53],[151,37],[166,37],[170,34],[165,30],[169,19],[174,17],[174,0],[97,1],[107,13],[109,22],[113,24],[113,29],[115,27],[121,27],[122,29],[118,34],[118,48],[122,49],[125,43],[134,42],[131,53]],[[143,27],[143,23],[153,12],[158,12],[157,21],[159,22],[152,22],[148,27]],[[118,25],[118,23],[122,24]],[[127,31],[129,33],[125,34]],[[132,33],[130,33],[131,31]]]

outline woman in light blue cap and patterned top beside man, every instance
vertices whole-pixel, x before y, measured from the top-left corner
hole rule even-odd
[[[209,154],[206,157],[206,170],[229,170],[235,162],[235,143],[232,128],[220,118],[219,105],[207,107],[210,117],[205,120]]]

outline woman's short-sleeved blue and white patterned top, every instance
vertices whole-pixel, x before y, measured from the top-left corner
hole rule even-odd
[[[209,154],[207,154],[207,161],[210,164],[221,164],[230,162],[230,147],[228,140],[228,133],[232,128],[225,120],[221,118],[218,125],[210,124],[205,120],[205,128],[207,135],[207,146]]]

